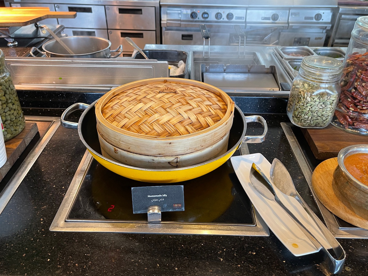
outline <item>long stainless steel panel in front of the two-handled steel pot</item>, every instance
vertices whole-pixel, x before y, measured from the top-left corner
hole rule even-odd
[[[17,86],[51,90],[109,91],[147,78],[169,77],[167,61],[12,57],[5,60]]]

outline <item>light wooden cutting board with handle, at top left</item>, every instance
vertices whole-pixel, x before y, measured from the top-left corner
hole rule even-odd
[[[46,18],[75,18],[75,11],[50,11],[47,7],[1,7],[0,27],[26,26]]]

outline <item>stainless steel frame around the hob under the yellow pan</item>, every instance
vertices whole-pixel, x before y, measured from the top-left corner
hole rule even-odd
[[[72,182],[61,202],[53,222],[51,231],[81,232],[116,232],[116,233],[150,233],[150,234],[201,234],[201,235],[236,235],[236,236],[269,236],[268,226],[254,209],[255,226],[205,224],[205,223],[142,223],[142,222],[89,222],[88,220],[68,220],[67,217],[77,198],[79,187],[85,172],[91,165],[93,157],[85,152]]]

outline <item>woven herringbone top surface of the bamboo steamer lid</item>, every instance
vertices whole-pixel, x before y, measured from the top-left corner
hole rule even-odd
[[[97,117],[105,120],[104,124],[125,134],[128,131],[133,136],[190,135],[213,128],[233,114],[231,98],[213,86],[208,89],[211,86],[204,88],[197,81],[177,78],[134,83],[105,94],[98,102],[100,114],[96,112]]]

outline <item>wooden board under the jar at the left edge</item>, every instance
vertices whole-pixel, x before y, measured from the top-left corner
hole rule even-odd
[[[25,127],[20,134],[5,142],[6,156],[8,157],[4,166],[0,168],[0,181],[11,169],[11,166],[17,161],[24,149],[28,146],[38,132],[37,124],[26,122]],[[2,133],[1,133],[2,135]]]

